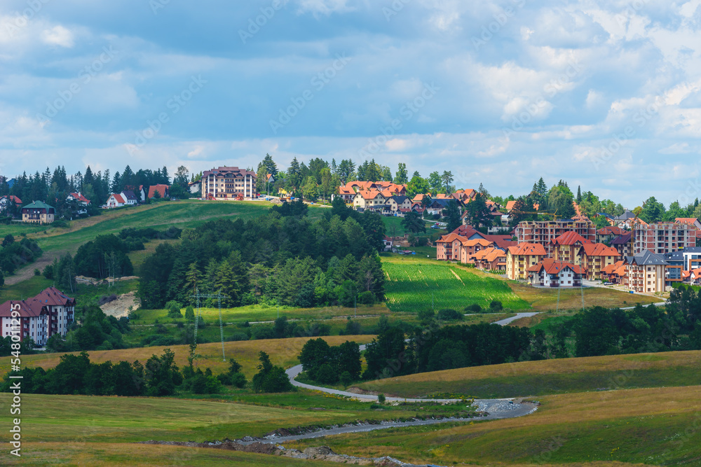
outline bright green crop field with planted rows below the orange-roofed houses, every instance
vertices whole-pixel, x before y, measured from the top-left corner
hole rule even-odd
[[[393,312],[420,312],[452,308],[458,311],[477,303],[489,307],[492,300],[508,309],[529,309],[500,279],[423,258],[383,256],[386,303]]]

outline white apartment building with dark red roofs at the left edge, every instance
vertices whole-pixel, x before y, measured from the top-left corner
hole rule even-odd
[[[27,300],[8,300],[0,305],[0,337],[19,335],[20,341],[32,338],[43,347],[52,335],[66,335],[74,321],[75,307],[76,300],[55,287]],[[13,310],[20,314],[19,325],[13,323]]]

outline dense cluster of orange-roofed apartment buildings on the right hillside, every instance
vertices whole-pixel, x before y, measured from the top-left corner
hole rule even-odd
[[[437,240],[437,259],[543,287],[579,287],[587,279],[657,293],[675,282],[701,284],[698,219],[648,224],[630,211],[616,217],[601,213],[609,226],[597,229],[576,204],[575,209],[578,214],[569,219],[522,221],[510,235],[461,225]]]

